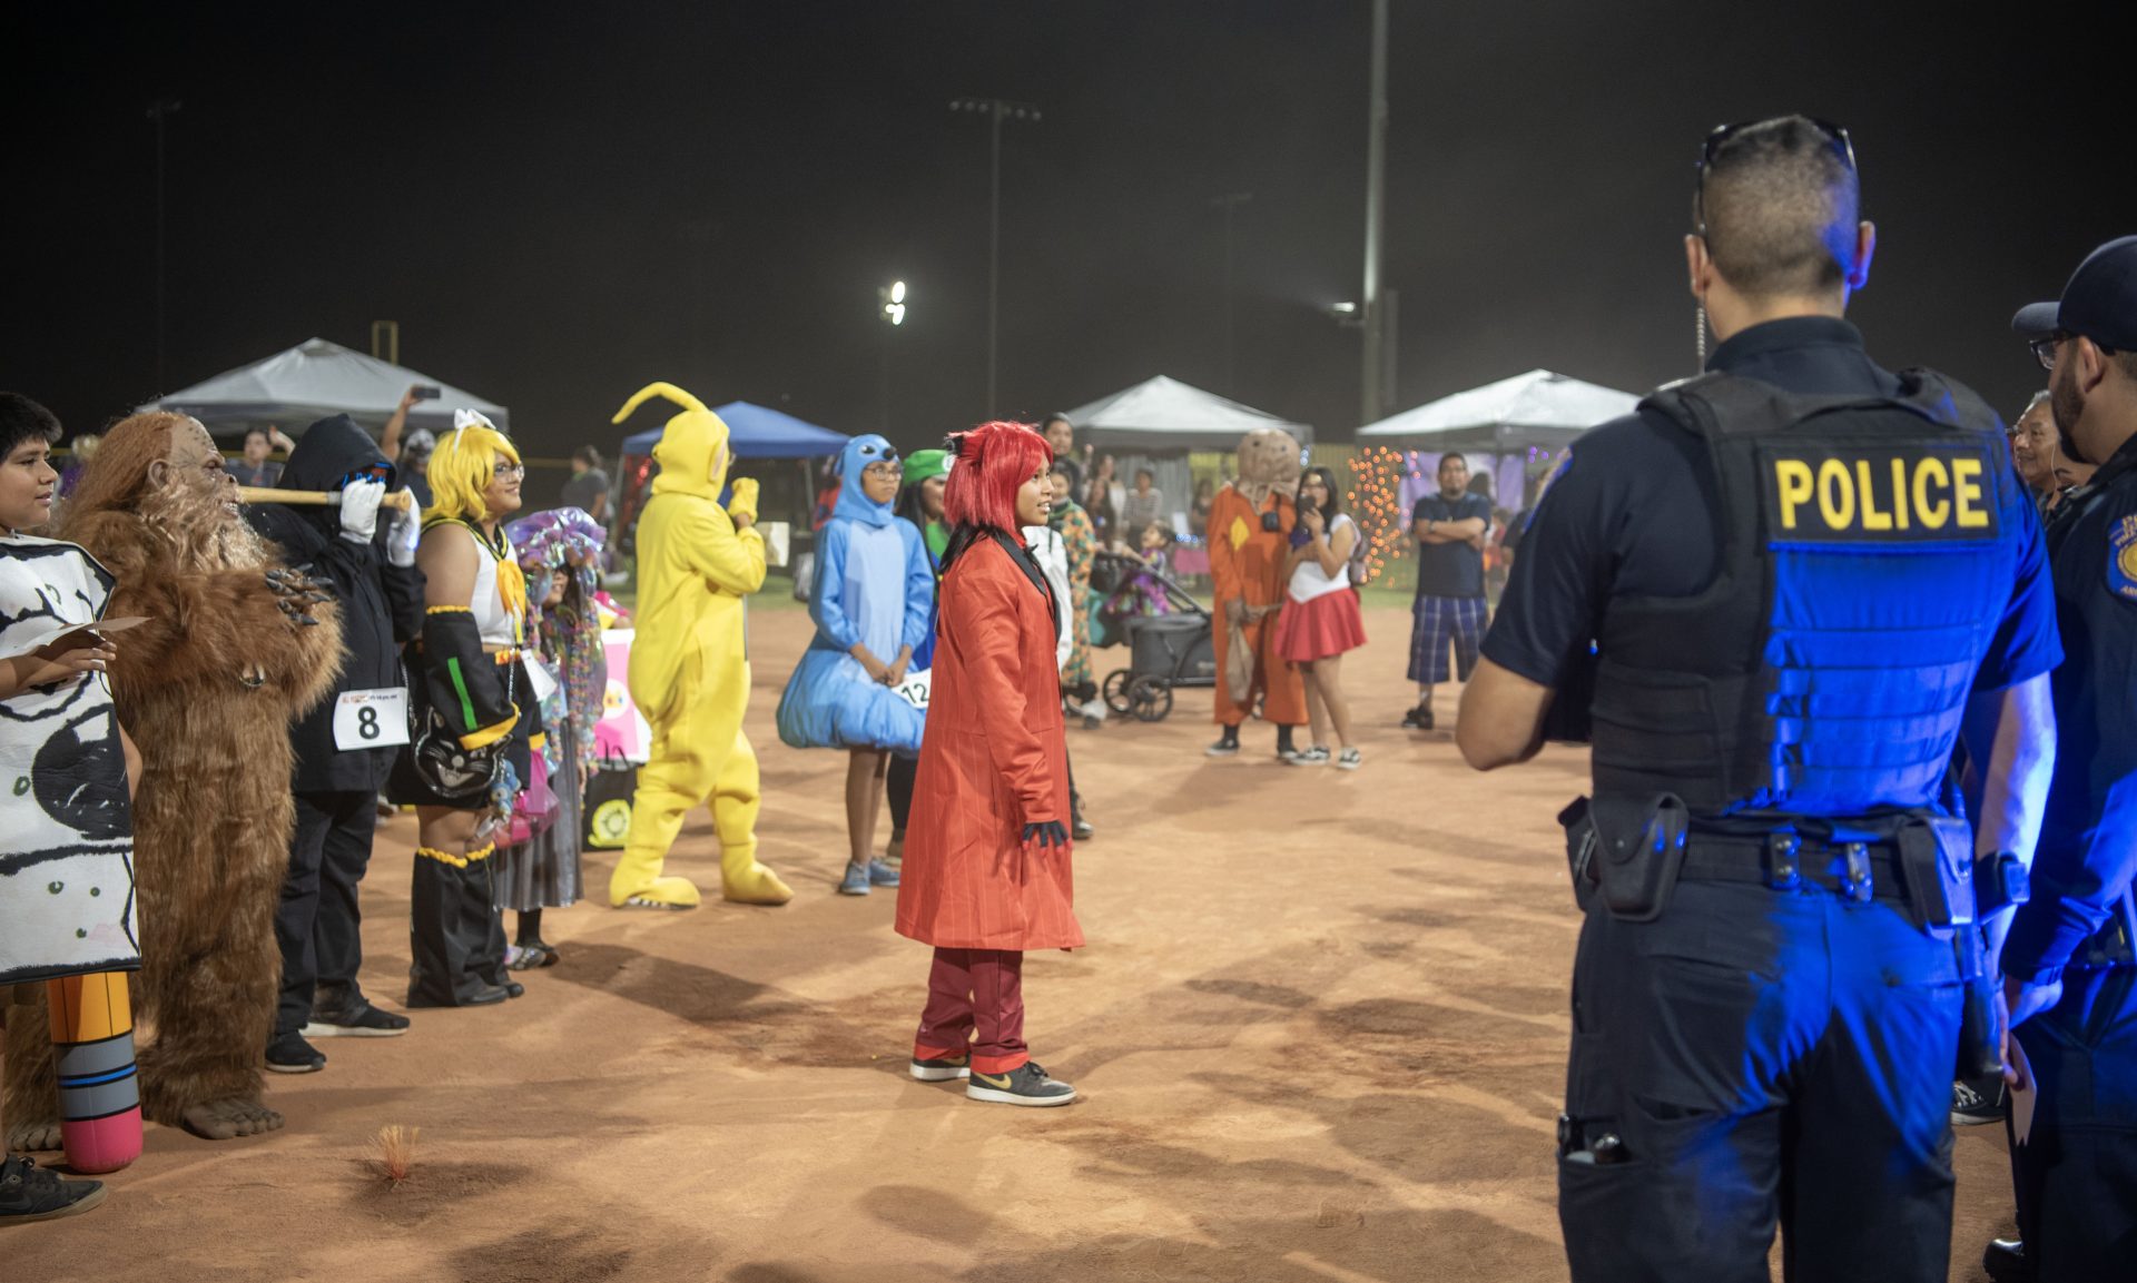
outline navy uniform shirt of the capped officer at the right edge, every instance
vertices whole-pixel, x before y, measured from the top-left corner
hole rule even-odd
[[[2002,971],[2049,982],[2137,875],[2137,438],[2049,517],[2056,779]]]

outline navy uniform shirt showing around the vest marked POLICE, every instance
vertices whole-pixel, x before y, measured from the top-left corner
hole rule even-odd
[[[1707,369],[1810,397],[1900,391],[1870,361],[1861,333],[1827,316],[1754,324],[1718,346]],[[2039,677],[2062,658],[2041,519],[2026,487],[2002,493],[2002,529],[2019,540],[2017,579],[1975,690]],[[1581,433],[1522,534],[1483,655],[1562,685],[1569,664],[1601,636],[1611,598],[1688,598],[1707,587],[1720,568],[1718,510],[1705,444],[1665,416],[1635,412]]]

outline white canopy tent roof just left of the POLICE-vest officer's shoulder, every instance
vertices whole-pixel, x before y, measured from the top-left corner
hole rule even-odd
[[[1556,450],[1635,406],[1633,393],[1530,369],[1370,423],[1357,440],[1413,450]]]

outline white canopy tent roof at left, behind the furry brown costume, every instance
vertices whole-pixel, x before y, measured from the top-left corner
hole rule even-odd
[[[453,410],[481,410],[500,429],[511,427],[509,410],[496,401],[327,339],[308,339],[265,361],[239,365],[141,410],[192,414],[216,433],[276,425],[295,438],[310,423],[333,414],[348,414],[372,429],[385,427],[412,384],[432,384],[440,395],[436,401],[417,401],[408,412],[410,429],[447,431],[453,427]]]

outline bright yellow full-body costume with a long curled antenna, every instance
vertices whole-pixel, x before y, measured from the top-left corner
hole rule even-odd
[[[720,835],[720,890],[746,905],[784,905],[793,890],[756,862],[756,751],[742,734],[750,660],[742,598],[765,583],[765,536],[756,534],[756,482],[742,478],[727,508],[727,425],[690,393],[656,382],[624,401],[615,423],[652,397],[684,408],[667,421],[652,497],[639,517],[637,640],[630,698],[652,726],[639,769],[630,837],[609,877],[618,909],[690,909],[697,886],[662,877],[682,818],[712,803]],[[731,517],[733,514],[733,517]],[[737,529],[735,517],[744,521]]]

